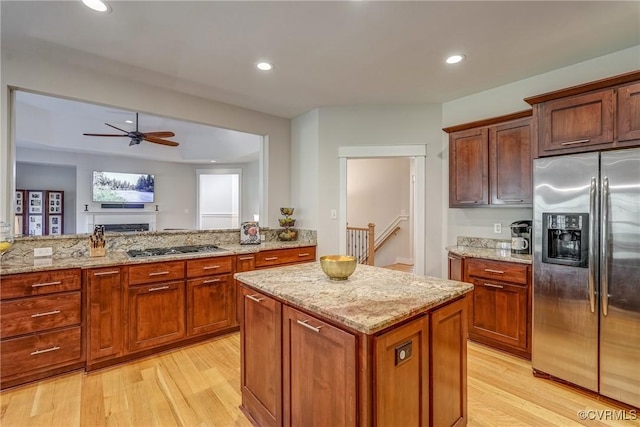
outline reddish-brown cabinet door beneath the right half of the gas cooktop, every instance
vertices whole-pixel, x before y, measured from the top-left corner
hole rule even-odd
[[[229,274],[187,281],[187,334],[215,332],[232,326],[233,279]]]

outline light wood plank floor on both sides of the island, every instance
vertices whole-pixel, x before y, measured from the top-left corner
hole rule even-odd
[[[0,393],[2,427],[250,426],[240,404],[240,339],[232,334],[141,361],[74,372]],[[469,343],[469,426],[640,426],[619,408],[534,378],[527,361]],[[600,411],[600,412],[596,412]],[[628,414],[631,415],[631,414]],[[328,426],[333,427],[333,426]],[[391,426],[404,427],[404,426]]]

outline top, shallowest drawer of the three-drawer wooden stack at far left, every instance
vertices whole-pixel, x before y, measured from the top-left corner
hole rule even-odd
[[[80,269],[51,270],[2,276],[0,298],[19,298],[80,290]]]

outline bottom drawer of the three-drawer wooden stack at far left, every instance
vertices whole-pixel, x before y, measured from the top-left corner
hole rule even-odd
[[[3,379],[82,362],[80,326],[2,341]]]

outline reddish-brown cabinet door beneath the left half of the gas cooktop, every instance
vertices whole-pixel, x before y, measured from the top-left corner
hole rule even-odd
[[[185,336],[184,281],[130,287],[129,351],[171,343]]]

